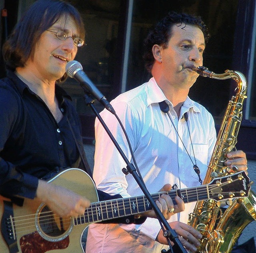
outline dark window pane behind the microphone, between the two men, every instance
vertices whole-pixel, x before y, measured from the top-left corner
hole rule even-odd
[[[84,20],[85,44],[78,49],[76,59],[97,88],[109,98],[116,56],[120,0],[72,0]],[[84,103],[84,91],[76,80],[68,78],[62,87],[72,96],[80,114],[93,114]],[[98,110],[102,106],[94,102]]]

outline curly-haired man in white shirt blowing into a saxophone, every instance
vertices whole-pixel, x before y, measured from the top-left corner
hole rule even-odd
[[[111,104],[126,128],[140,173],[150,192],[162,183],[179,188],[200,185],[206,175],[216,143],[212,115],[188,97],[198,74],[192,70],[203,65],[208,39],[204,22],[188,14],[169,13],[150,31],[144,42],[144,60],[152,78],[121,94]],[[102,118],[130,159],[124,133],[114,116],[104,110]],[[101,124],[96,120],[94,180],[99,189],[123,197],[139,195],[141,190]],[[243,151],[227,154],[225,165],[247,169]],[[168,220],[187,251],[194,252],[202,235],[187,225],[195,203]],[[172,210],[171,210],[172,211]],[[168,246],[157,220],[147,218],[141,225],[92,224],[86,252],[104,253],[160,252]]]

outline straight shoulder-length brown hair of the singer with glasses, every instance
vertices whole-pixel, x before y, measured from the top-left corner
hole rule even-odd
[[[24,67],[30,56],[33,58],[36,43],[42,33],[62,16],[74,18],[79,37],[84,39],[84,23],[74,6],[62,0],[38,0],[24,13],[4,43],[6,68],[14,71],[17,67]],[[63,82],[66,77],[65,73],[57,83]]]

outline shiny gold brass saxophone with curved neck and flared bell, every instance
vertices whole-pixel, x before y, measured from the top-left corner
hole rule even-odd
[[[216,177],[224,177],[236,172],[237,167],[226,167],[226,154],[235,149],[237,135],[242,120],[242,106],[246,98],[246,79],[237,71],[226,70],[215,74],[205,67],[192,68],[204,77],[236,81],[236,96],[228,103],[224,119],[220,126],[216,145],[206,171],[203,184],[208,184]],[[230,198],[233,196],[230,195]],[[229,207],[222,213],[220,201],[208,199],[198,201],[193,213],[190,213],[188,224],[200,231],[203,237],[197,253],[230,253],[242,230],[256,220],[256,196],[250,191],[248,197],[229,200]]]

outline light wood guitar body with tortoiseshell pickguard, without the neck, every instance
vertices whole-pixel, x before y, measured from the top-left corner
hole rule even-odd
[[[98,201],[94,182],[87,173],[80,169],[67,169],[48,183],[65,187],[90,199],[91,202]],[[23,206],[19,207],[1,196],[0,215],[2,217],[1,253],[44,253],[48,251],[50,253],[84,253],[81,238],[89,223],[74,226],[74,219],[54,215],[44,203],[25,199]],[[12,219],[8,219],[10,216]],[[9,221],[8,224],[6,219]],[[11,230],[12,238],[9,238],[9,230]]]

